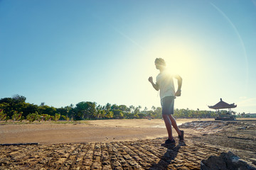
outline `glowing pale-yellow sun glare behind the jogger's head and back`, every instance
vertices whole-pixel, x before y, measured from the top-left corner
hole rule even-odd
[[[196,79],[200,71],[198,58],[200,54],[191,43],[185,41],[166,42],[164,40],[156,40],[148,46],[151,60],[154,61],[160,57],[166,61],[166,69],[171,74],[178,74],[183,79],[182,89],[193,91],[197,87]],[[174,83],[177,86],[176,83]]]

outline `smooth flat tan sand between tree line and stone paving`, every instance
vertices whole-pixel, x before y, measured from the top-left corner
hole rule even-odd
[[[178,119],[177,124],[198,119]],[[206,119],[213,120],[213,119]],[[164,120],[88,120],[86,124],[0,125],[0,144],[56,144],[70,142],[112,142],[166,137]],[[177,136],[174,132],[174,136]]]

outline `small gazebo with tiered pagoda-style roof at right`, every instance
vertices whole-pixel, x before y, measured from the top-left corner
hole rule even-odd
[[[215,120],[235,120],[234,116],[231,114],[231,108],[236,108],[235,103],[228,104],[225,103],[222,98],[220,98],[220,102],[215,104],[214,106],[208,106],[208,108],[213,108],[218,112],[219,117],[215,118]],[[220,114],[219,109],[228,108],[229,113],[225,115]]]

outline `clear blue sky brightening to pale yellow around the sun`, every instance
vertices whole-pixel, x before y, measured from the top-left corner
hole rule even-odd
[[[256,113],[255,16],[256,0],[1,0],[0,98],[160,106],[162,57],[183,78],[175,108]]]

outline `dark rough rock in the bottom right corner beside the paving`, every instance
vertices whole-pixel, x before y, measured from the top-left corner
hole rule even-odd
[[[256,167],[253,165],[247,164],[244,160],[240,159],[238,156],[232,152],[221,153],[219,157],[210,156],[208,159],[201,161],[201,170],[243,170],[243,169],[253,169],[256,170]]]

